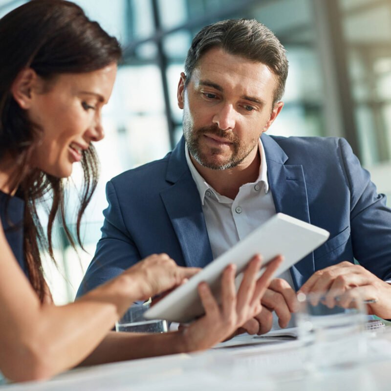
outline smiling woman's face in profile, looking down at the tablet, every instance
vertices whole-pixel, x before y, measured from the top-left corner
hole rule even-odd
[[[48,86],[41,80],[41,85],[32,89],[28,116],[43,130],[31,157],[32,167],[67,177],[91,141],[104,137],[101,111],[111,95],[116,72],[117,65],[111,64],[88,73],[64,73]]]

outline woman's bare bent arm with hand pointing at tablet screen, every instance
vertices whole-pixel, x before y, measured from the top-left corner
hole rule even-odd
[[[0,224],[0,370],[12,380],[43,379],[71,368],[104,339],[131,303],[191,277],[167,255],[152,255],[72,304],[41,304]]]

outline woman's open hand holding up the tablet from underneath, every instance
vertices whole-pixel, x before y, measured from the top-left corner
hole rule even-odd
[[[261,312],[261,298],[268,287],[273,273],[282,261],[276,257],[257,280],[261,268],[261,257],[249,262],[240,284],[235,289],[236,265],[228,265],[221,277],[221,304],[218,305],[208,284],[198,285],[198,294],[205,309],[205,315],[190,326],[181,328],[185,350],[203,350],[227,339],[246,321]]]

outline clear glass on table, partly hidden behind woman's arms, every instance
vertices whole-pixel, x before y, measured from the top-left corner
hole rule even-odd
[[[164,333],[167,331],[167,321],[144,319],[144,312],[150,307],[150,302],[133,304],[124,316],[115,323],[116,331],[135,333]]]

